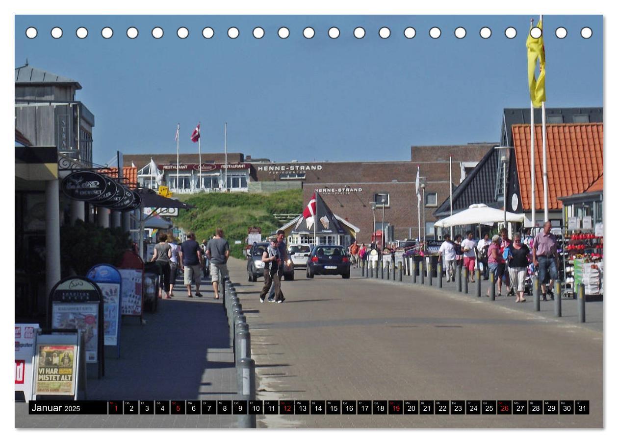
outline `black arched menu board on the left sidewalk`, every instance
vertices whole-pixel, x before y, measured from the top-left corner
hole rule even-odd
[[[67,277],[49,294],[48,325],[51,329],[79,329],[86,363],[96,363],[98,378],[105,375],[103,350],[103,294],[85,277]]]

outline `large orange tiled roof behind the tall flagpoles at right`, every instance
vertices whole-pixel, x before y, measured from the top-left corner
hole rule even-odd
[[[603,123],[546,125],[549,209],[559,196],[583,193],[603,174]],[[513,125],[513,146],[523,210],[530,201],[530,125]],[[543,209],[543,126],[535,125],[535,207]]]

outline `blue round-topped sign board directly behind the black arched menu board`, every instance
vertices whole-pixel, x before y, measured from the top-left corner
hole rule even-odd
[[[116,347],[116,357],[120,358],[122,276],[108,264],[91,267],[86,276],[103,294],[103,344]]]

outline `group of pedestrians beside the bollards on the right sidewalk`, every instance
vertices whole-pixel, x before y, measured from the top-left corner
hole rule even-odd
[[[475,282],[475,262],[483,263],[485,279],[489,273],[497,281],[497,296],[502,295],[502,286],[506,286],[507,296],[515,296],[516,302],[525,302],[525,282],[528,275],[528,266],[533,263],[538,270],[538,278],[541,283],[543,300],[547,296],[554,299],[551,291],[552,282],[558,278],[558,252],[557,239],[551,233],[551,222],[545,222],[543,230],[531,238],[530,230],[526,230],[524,236],[515,233],[513,239],[509,239],[508,231],[502,228],[500,234],[496,234],[489,241],[489,234],[481,239],[478,244],[473,240],[472,231],[466,233],[462,241],[457,235],[455,241],[446,234],[444,242],[439,249],[439,260],[444,260],[447,281],[455,281],[455,266],[468,269],[468,278],[472,276]],[[549,288],[546,283],[549,277]],[[488,289],[486,296],[489,297]]]

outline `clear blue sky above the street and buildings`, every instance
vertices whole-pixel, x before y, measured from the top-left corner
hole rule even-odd
[[[15,67],[74,78],[77,99],[95,114],[95,162],[125,154],[202,151],[276,161],[407,160],[410,146],[497,141],[504,107],[529,107],[526,49],[538,15],[18,15]],[[603,17],[545,15],[548,107],[603,106]],[[36,27],[35,39],[25,29]],[[60,39],[52,27],[64,30]],[[78,39],[75,29],[89,30]],[[101,28],[114,29],[111,39]],[[140,31],[127,38],[130,26]],[[163,38],[150,31],[162,27]],[[187,27],[186,39],[176,29]],[[205,39],[201,30],[214,28]],[[237,39],[227,28],[239,28]],[[264,28],[255,39],[252,30]],[[290,30],[287,39],[277,29]],[[302,36],[310,26],[316,35]],[[330,27],[341,36],[331,39]],[[355,27],[365,28],[363,39]],[[380,27],[391,36],[378,36]],[[413,39],[404,29],[414,27]],[[442,35],[432,39],[431,27]],[[457,39],[456,27],[467,36]],[[493,31],[479,36],[481,27]],[[517,29],[507,39],[504,30]],[[554,30],[565,27],[558,39]],[[593,36],[583,39],[582,27]]]

